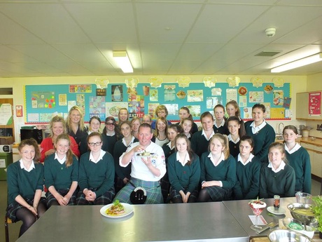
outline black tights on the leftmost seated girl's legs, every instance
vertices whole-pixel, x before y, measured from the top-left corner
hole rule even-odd
[[[34,224],[34,222],[36,222],[36,219],[38,217],[41,217],[41,215],[45,213],[45,210],[46,210],[45,204],[42,202],[38,204],[37,217],[33,213],[31,213],[31,211],[28,210],[27,208],[20,208],[17,210],[17,213],[15,215],[17,216],[18,220],[22,221],[19,237],[22,236],[22,234],[24,234],[25,231],[27,231],[27,229],[29,229],[29,227],[31,227],[31,225]]]

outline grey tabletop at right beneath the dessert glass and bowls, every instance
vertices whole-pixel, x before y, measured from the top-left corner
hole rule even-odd
[[[267,204],[267,207],[273,206],[273,200],[274,199],[263,199],[262,201],[265,201]],[[223,201],[223,204],[230,210],[230,213],[235,217],[235,219],[239,222],[241,227],[246,231],[246,233],[250,237],[263,237],[267,236],[269,234],[269,230],[263,231],[260,234],[256,234],[256,232],[251,229],[251,220],[249,219],[248,215],[253,215],[253,212],[251,208],[248,206],[249,200],[239,200],[239,201]],[[280,206],[281,208],[284,208],[286,210],[285,215],[275,215],[277,218],[281,219],[283,217],[292,217],[290,215],[290,211],[288,210],[287,206],[289,203],[296,203],[295,197],[290,198],[281,198]],[[262,211],[262,217],[265,218],[266,222],[272,222],[274,219],[274,216],[269,215],[269,212],[265,208],[265,210]]]

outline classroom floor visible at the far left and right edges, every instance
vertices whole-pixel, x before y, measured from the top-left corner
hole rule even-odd
[[[6,206],[7,206],[7,182],[0,181],[0,216],[4,218],[6,213]],[[321,183],[312,180],[312,188],[311,194],[321,195]],[[2,220],[3,221],[3,220]],[[18,239],[18,234],[20,230],[21,222],[17,222],[15,224],[9,224],[9,234],[10,234],[10,241],[16,241]],[[5,241],[4,236],[4,222],[0,223],[0,241]]]

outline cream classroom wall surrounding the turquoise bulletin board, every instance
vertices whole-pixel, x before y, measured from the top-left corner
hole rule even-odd
[[[251,78],[254,76],[248,75],[238,75],[241,79],[241,83],[248,83],[251,82]],[[148,79],[152,76],[53,76],[53,77],[27,77],[27,78],[1,78],[0,79],[0,88],[5,87],[12,87],[13,88],[13,95],[2,95],[0,98],[13,98],[13,105],[24,105],[24,86],[25,85],[55,85],[55,84],[80,84],[80,83],[94,83],[95,79],[97,78],[107,78],[109,79],[109,83],[124,83],[125,79],[130,78],[138,78],[140,83],[149,83]],[[163,79],[164,83],[176,83],[176,79],[180,76],[157,76]],[[191,82],[194,83],[202,83],[204,79],[204,75],[195,75],[195,76],[188,76]],[[228,79],[228,75],[220,75],[215,76],[218,82],[226,82]],[[258,75],[259,78],[262,79],[263,83],[272,82],[272,79],[275,77],[281,77],[284,79],[285,82],[290,83],[291,85],[291,104],[290,109],[293,112],[293,116],[290,121],[283,121],[285,125],[293,124],[295,126],[299,126],[300,124],[305,124],[304,121],[297,121],[295,119],[296,110],[295,110],[295,103],[296,103],[296,93],[305,92],[307,91],[307,76],[269,76],[269,75]],[[240,86],[240,84],[239,84]],[[321,84],[322,90],[322,84]],[[14,108],[15,112],[15,108]],[[24,107],[24,116],[25,116],[25,107]],[[14,114],[15,116],[15,114]],[[278,132],[278,126],[280,121],[269,121],[269,124],[273,126],[273,128]],[[15,117],[15,135],[16,135],[16,142],[20,142],[20,127],[25,126],[25,118],[17,118]]]

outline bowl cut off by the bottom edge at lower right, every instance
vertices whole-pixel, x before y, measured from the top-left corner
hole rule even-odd
[[[268,234],[269,241],[301,241],[301,242],[313,242],[311,238],[304,234],[297,233],[288,229],[276,229]]]

